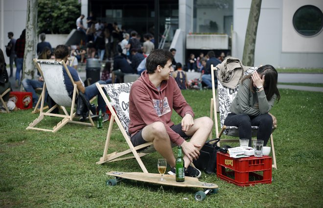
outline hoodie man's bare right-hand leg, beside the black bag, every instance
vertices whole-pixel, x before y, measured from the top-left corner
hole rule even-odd
[[[197,150],[200,150],[205,142],[208,139],[209,134],[212,131],[213,121],[208,117],[201,117],[194,120],[194,125],[187,131],[185,134],[187,136],[192,136],[190,139],[190,143],[194,143],[199,147],[196,147]],[[185,167],[188,167],[192,162],[192,158],[188,158],[187,155],[183,157],[185,162]]]

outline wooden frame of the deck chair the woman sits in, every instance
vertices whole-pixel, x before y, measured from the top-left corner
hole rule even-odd
[[[216,94],[215,94],[215,82],[214,82],[214,71],[216,71],[217,73],[217,67],[213,66],[213,64],[211,64],[211,77],[212,77],[212,98],[211,98],[211,102],[210,102],[210,118],[212,119],[212,114],[214,112],[214,120],[215,120],[215,133],[216,133],[216,138],[220,138],[226,131],[226,129],[228,129],[228,126],[223,125],[220,129],[219,132],[219,125],[218,125],[218,117],[217,117],[217,112],[216,112]],[[220,83],[218,83],[219,86]],[[220,114],[221,114],[221,109],[220,109]],[[237,129],[236,126],[231,126],[234,127],[235,129]],[[257,126],[253,126],[253,136],[255,135],[255,132],[257,131]],[[273,127],[273,131],[276,129],[276,125]],[[253,139],[255,140],[255,139]],[[221,139],[221,142],[239,142],[239,140],[237,139]],[[275,154],[275,148],[274,148],[274,139],[273,139],[273,134],[270,135],[270,144],[272,147],[272,155],[273,155],[273,168],[277,169],[277,163],[276,163],[276,154]],[[220,142],[217,143],[218,146],[220,146]]]

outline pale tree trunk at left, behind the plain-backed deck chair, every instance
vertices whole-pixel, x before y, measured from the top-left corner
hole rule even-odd
[[[38,0],[28,0],[26,17],[26,41],[23,54],[23,79],[33,79],[35,67],[35,47],[37,44],[37,9]]]

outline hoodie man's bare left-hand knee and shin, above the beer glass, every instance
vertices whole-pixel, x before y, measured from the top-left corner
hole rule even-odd
[[[142,138],[147,142],[153,142],[154,147],[171,167],[175,167],[175,157],[170,139],[163,123],[155,122],[142,129]]]

